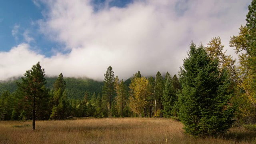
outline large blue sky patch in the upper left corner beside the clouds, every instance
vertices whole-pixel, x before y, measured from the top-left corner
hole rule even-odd
[[[69,50],[62,50],[62,44],[49,40],[39,32],[37,24],[32,24],[43,19],[43,5],[36,6],[32,0],[1,0],[0,1],[0,52],[7,52],[12,47],[23,42],[28,42],[24,32],[32,38],[29,42],[31,49],[51,57],[56,54],[55,49],[62,54],[69,53]],[[16,29],[14,28],[16,27]],[[54,50],[53,50],[54,49]]]

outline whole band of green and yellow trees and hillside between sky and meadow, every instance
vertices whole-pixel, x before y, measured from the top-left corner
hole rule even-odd
[[[103,82],[45,76],[40,62],[19,80],[0,84],[0,120],[95,118],[171,118],[192,136],[218,136],[233,126],[256,124],[256,0],[246,25],[230,37],[237,59],[227,55],[220,37],[189,44],[176,74],[124,81],[109,66]]]

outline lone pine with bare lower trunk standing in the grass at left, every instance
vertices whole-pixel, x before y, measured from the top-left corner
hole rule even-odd
[[[17,82],[18,89],[22,92],[24,100],[30,110],[32,110],[33,115],[33,130],[35,127],[36,112],[47,108],[48,104],[48,90],[44,87],[46,80],[44,78],[44,69],[40,66],[38,62],[36,65],[33,65],[31,70],[27,70],[24,74],[25,77],[22,77],[22,82]]]

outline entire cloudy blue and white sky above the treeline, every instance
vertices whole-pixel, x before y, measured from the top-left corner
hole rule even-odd
[[[1,0],[0,80],[40,62],[46,76],[126,80],[178,74],[191,41],[204,46],[246,24],[251,0]]]

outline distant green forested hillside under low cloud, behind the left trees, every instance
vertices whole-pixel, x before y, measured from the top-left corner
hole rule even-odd
[[[46,77],[46,88],[51,90],[57,78],[58,77]],[[88,78],[64,78],[64,80],[66,82],[67,96],[72,99],[83,98],[86,91],[89,96],[94,92],[98,94],[98,92],[101,92],[103,86],[103,82],[94,81]],[[14,92],[17,89],[16,82],[20,82],[20,79],[0,82],[0,95],[6,90]]]

